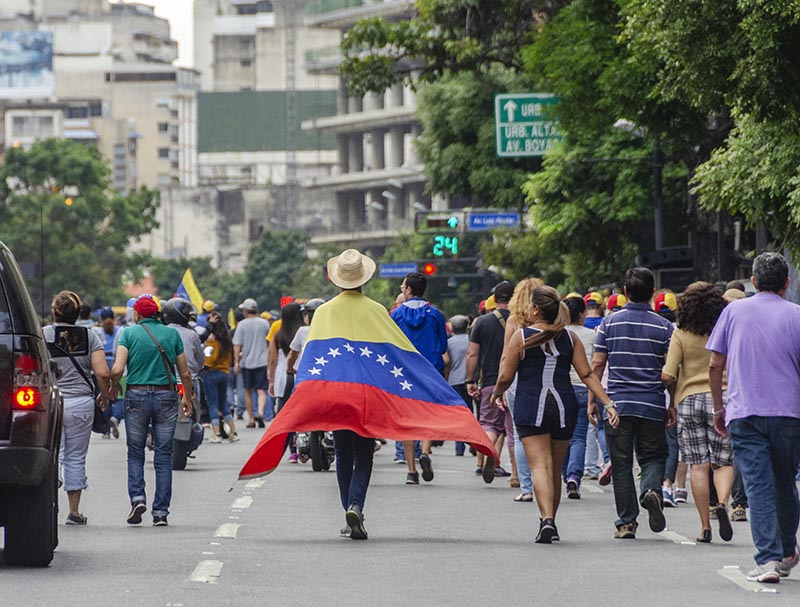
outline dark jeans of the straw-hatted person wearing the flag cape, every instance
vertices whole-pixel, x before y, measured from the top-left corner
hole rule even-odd
[[[358,506],[363,510],[372,476],[375,439],[364,438],[352,430],[334,430],[333,448],[342,508]]]

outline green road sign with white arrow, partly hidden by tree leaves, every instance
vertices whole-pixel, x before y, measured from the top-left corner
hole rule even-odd
[[[561,141],[551,110],[559,98],[548,93],[495,95],[497,155],[506,158],[544,156]]]

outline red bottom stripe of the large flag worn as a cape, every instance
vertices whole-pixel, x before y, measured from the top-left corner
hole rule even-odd
[[[394,440],[454,440],[497,462],[497,451],[467,407],[399,398],[374,386],[306,380],[270,423],[239,478],[269,474],[281,461],[290,432],[352,430]]]

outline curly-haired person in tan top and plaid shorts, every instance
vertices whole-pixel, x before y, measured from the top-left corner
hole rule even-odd
[[[678,301],[678,328],[672,334],[661,374],[673,392],[672,402],[678,403],[678,449],[684,463],[691,466],[692,495],[701,524],[697,541],[704,544],[711,541],[709,468],[719,499],[712,508],[719,535],[726,542],[733,537],[727,506],[733,485],[733,453],[728,437],[714,430],[708,380],[711,352],[706,350],[708,336],[724,307],[722,291],[714,285],[694,282],[686,287]]]

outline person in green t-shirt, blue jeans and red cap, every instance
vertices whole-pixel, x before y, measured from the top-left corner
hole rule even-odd
[[[152,295],[141,295],[133,304],[135,326],[127,327],[117,345],[111,370],[111,394],[117,394],[125,365],[125,437],[128,445],[128,495],[131,511],[128,524],[138,525],[147,510],[144,483],[144,448],[148,427],[153,427],[153,467],[156,491],[153,525],[167,526],[172,498],[172,441],[178,420],[178,393],[173,369],[177,365],[184,386],[183,410],[192,413],[192,377],[178,332],[158,320],[161,304]],[[160,348],[163,348],[162,356]]]

